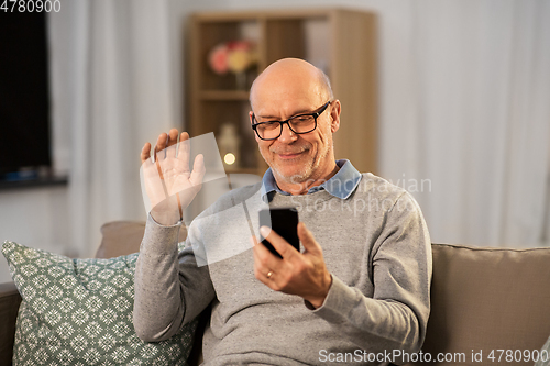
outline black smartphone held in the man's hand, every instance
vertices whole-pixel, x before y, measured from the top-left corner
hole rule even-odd
[[[295,208],[276,208],[260,211],[260,226],[267,226],[283,236],[296,251],[300,252],[298,239],[298,211]],[[263,236],[260,237],[270,252],[279,258],[280,254]]]

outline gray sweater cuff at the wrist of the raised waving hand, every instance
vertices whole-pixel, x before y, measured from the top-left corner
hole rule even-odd
[[[177,243],[182,222],[174,225],[162,225],[153,219],[151,213],[147,215],[145,233],[141,242],[141,253],[154,253],[156,255],[173,255],[177,253]]]

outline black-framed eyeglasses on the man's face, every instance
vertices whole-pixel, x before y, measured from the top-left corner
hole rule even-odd
[[[262,140],[276,140],[283,133],[283,124],[287,124],[288,129],[296,134],[309,133],[317,129],[317,118],[329,107],[329,100],[321,109],[315,113],[306,113],[295,115],[286,121],[266,121],[257,122],[256,117],[252,114],[252,130]],[[254,123],[255,122],[255,123]]]

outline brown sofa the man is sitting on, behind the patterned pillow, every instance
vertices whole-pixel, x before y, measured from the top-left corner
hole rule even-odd
[[[144,228],[125,221],[103,225],[96,256],[138,252]],[[432,244],[432,254],[426,342],[421,353],[403,359],[411,365],[534,365],[550,335],[550,248]],[[20,303],[15,285],[1,284],[0,365],[12,364]],[[190,365],[200,363],[207,318],[199,320]]]

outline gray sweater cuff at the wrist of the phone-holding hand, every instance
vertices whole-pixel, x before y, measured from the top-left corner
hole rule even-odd
[[[346,321],[344,314],[349,314],[358,301],[355,290],[332,275],[332,285],[324,302],[312,312],[330,323],[339,324]]]

